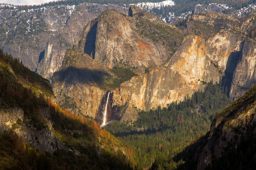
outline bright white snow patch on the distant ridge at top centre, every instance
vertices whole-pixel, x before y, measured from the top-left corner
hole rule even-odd
[[[166,6],[173,6],[175,5],[175,3],[172,0],[165,0],[162,2],[140,2],[137,4],[130,4],[130,6],[136,6],[139,7],[141,9],[147,9],[147,10],[151,10],[153,8],[158,8],[160,9],[161,7],[166,7]]]

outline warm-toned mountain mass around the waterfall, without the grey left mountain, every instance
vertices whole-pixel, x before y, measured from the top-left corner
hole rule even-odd
[[[129,119],[134,120],[137,110],[148,111],[183,101],[184,97],[203,90],[208,82],[222,82],[229,97],[236,99],[256,80],[255,53],[251,50],[255,45],[250,38],[254,13],[252,11],[244,20],[218,12],[195,13],[185,22],[176,24],[181,32],[139,8],[130,7],[129,16],[104,11],[85,26],[73,47],[74,51],[89,55],[90,62],[103,64],[100,69],[103,72],[99,71],[99,66],[93,69],[93,64],[83,64],[82,72],[79,66],[79,69],[69,70],[63,65],[65,71],[56,72],[53,80],[56,102],[76,113],[100,119],[106,91],[111,91],[110,112],[115,117],[133,115]],[[187,36],[181,42],[184,35]],[[76,60],[75,56],[69,58]],[[78,59],[76,63],[83,61]],[[69,67],[71,65],[77,67],[74,62],[70,62]],[[113,72],[119,68],[125,68],[119,73],[128,68],[138,76],[131,76],[130,80],[129,76],[119,77]],[[94,72],[90,73],[91,70]],[[72,74],[76,71],[74,79]],[[94,80],[88,83],[84,78],[88,76],[84,74],[95,75]],[[115,76],[127,77],[128,81],[114,85],[116,80],[112,78]],[[73,82],[72,88],[67,82]]]

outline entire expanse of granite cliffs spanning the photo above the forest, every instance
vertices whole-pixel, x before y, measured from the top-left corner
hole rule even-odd
[[[16,18],[27,18],[30,27],[26,27],[25,35],[34,37],[33,41],[29,39],[31,44],[39,43],[38,48],[33,47],[40,53],[38,64],[35,59],[29,60],[34,62],[29,68],[50,80],[56,102],[65,108],[97,117],[106,91],[110,90],[113,112],[124,113],[125,109],[118,109],[124,105],[134,112],[136,108],[150,110],[182,101],[185,96],[202,90],[205,83],[220,80],[229,97],[236,99],[255,83],[255,42],[249,36],[255,27],[254,11],[239,20],[211,10],[194,13],[187,16],[186,24],[179,30],[136,7],[130,7],[129,11],[118,8],[129,15],[105,11],[108,8],[116,7],[84,3],[13,13]],[[34,17],[29,19],[28,13]],[[14,19],[6,18],[7,13],[4,16],[2,24],[6,27],[7,19]],[[48,31],[40,31],[37,22],[44,23]],[[32,29],[33,24],[36,31]],[[9,31],[7,35],[7,41],[14,36],[13,42],[20,43],[18,32]],[[43,38],[39,40],[37,35]],[[46,47],[42,48],[43,42]],[[8,51],[8,42],[4,44]],[[90,66],[81,59],[76,60],[76,55],[66,53],[72,44],[73,51],[79,51],[77,55],[85,57]],[[67,62],[65,57],[84,65]],[[26,65],[22,57],[20,60]],[[131,71],[138,76],[124,82],[127,79],[121,80],[122,76],[118,77],[112,69]],[[86,80],[81,75],[90,78]],[[114,85],[115,78],[119,81]]]

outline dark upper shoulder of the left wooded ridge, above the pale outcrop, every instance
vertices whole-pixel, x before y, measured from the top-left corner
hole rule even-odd
[[[35,97],[49,97],[53,95],[47,79],[32,72],[22,65],[17,58],[3,53],[0,49],[0,97],[1,105],[22,105],[27,95]]]

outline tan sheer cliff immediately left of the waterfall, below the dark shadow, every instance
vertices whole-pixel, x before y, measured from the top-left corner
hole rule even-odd
[[[62,71],[61,71],[62,72]],[[65,74],[76,77],[77,71],[68,69]],[[59,72],[54,73],[54,77],[60,76]],[[63,107],[69,109],[72,113],[88,115],[96,118],[100,115],[102,110],[99,110],[103,105],[102,99],[105,96],[105,91],[101,90],[97,86],[90,86],[89,84],[82,83],[79,79],[73,79],[76,83],[66,82],[65,79],[60,82],[53,82],[54,93],[58,96],[56,101]],[[65,95],[64,95],[65,94]],[[70,98],[70,100],[67,99]],[[70,106],[63,105],[69,103]]]

